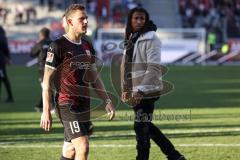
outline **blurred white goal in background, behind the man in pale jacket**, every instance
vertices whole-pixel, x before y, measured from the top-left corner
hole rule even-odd
[[[124,32],[124,28],[98,29],[94,47],[105,64],[114,54],[123,53]],[[189,53],[206,53],[205,29],[159,28],[157,35],[162,41],[162,63],[172,63]]]

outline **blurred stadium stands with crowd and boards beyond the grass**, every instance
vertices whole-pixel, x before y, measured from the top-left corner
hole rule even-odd
[[[103,40],[97,37],[98,30],[107,29],[110,33],[114,33],[112,28],[122,30],[126,23],[127,11],[136,6],[143,6],[149,10],[151,19],[157,22],[159,37],[163,41],[163,62],[207,64],[240,49],[238,40],[240,37],[238,27],[240,2],[238,0],[226,2],[224,0],[151,0],[151,3],[144,0],[51,1],[52,4],[43,4],[38,0],[22,0],[20,5],[16,5],[17,0],[0,1],[0,23],[6,29],[15,64],[26,63],[30,60],[26,53],[36,42],[40,28],[51,28],[53,39],[63,33],[61,17],[66,6],[73,2],[86,5],[90,13],[88,33],[96,43],[100,56],[103,54],[100,53],[99,43]],[[174,30],[178,33],[173,32]],[[165,38],[166,35],[174,38]],[[193,38],[193,35],[196,38]],[[110,40],[114,41],[114,38]],[[187,42],[194,44],[195,48],[184,45]],[[181,49],[181,54],[179,54]],[[117,52],[119,53],[120,50]],[[213,50],[215,51],[212,52]],[[171,57],[165,55],[171,55]],[[106,59],[109,62],[111,57],[107,56]],[[228,59],[227,62],[232,59],[237,61],[238,54]]]

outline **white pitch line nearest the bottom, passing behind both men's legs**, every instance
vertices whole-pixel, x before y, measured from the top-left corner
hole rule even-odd
[[[240,147],[240,144],[214,144],[214,143],[200,143],[200,144],[176,144],[179,147]],[[61,145],[10,145],[0,144],[0,148],[61,148]],[[100,144],[90,145],[93,148],[133,148],[133,144]],[[157,147],[153,145],[152,147]]]

